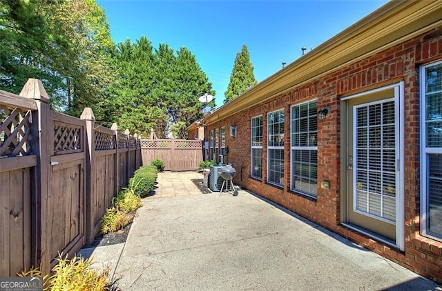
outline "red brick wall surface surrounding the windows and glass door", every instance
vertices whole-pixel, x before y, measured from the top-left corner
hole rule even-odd
[[[269,101],[256,104],[207,130],[236,126],[237,137],[227,134],[230,149],[227,161],[236,168],[234,183],[270,199],[302,217],[337,232],[363,247],[380,254],[425,277],[442,282],[442,243],[419,234],[419,66],[442,59],[442,27],[405,41],[383,52],[340,68],[324,77],[304,83]],[[340,225],[340,96],[364,92],[390,83],[405,83],[405,252],[397,251],[363,234]],[[289,192],[290,142],[285,140],[285,183],[278,188],[266,183],[267,113],[285,110],[285,132],[290,132],[290,107],[311,99],[318,109],[331,106],[332,114],[318,121],[318,181],[329,181],[330,188],[318,187],[316,200]],[[251,117],[263,115],[262,177],[250,177]],[[227,130],[228,132],[228,130]]]

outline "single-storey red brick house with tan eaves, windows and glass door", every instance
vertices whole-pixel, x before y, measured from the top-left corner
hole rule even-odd
[[[442,282],[442,1],[390,1],[201,123],[234,183]]]

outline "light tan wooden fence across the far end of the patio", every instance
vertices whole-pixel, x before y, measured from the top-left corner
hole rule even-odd
[[[202,141],[186,139],[142,139],[143,165],[161,159],[170,171],[196,170],[202,161]]]

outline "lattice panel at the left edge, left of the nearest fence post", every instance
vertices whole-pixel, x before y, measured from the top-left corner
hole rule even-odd
[[[0,157],[31,154],[30,110],[0,106]]]

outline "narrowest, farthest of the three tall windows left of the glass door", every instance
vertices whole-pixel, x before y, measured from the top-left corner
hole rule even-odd
[[[262,179],[262,116],[251,119],[251,177]]]

